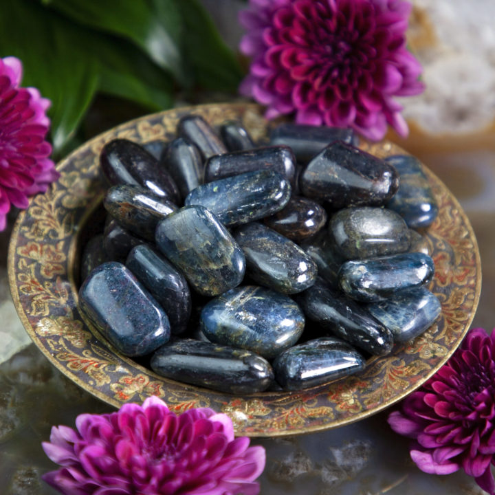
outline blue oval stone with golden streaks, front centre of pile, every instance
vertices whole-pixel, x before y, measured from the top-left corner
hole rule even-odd
[[[201,311],[201,330],[208,340],[267,359],[294,345],[304,324],[303,312],[291,298],[252,285],[225,292]]]

